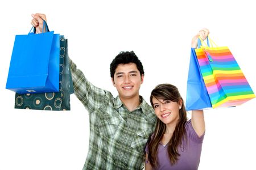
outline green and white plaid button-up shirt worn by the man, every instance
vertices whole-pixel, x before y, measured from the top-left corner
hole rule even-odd
[[[155,128],[154,109],[140,96],[130,112],[119,97],[88,82],[70,60],[75,95],[89,112],[90,141],[83,169],[143,169],[144,147]]]

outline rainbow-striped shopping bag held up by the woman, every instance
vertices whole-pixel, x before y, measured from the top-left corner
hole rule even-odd
[[[253,99],[253,90],[229,48],[209,41],[210,46],[201,40],[205,46],[195,52],[212,108],[233,107]]]

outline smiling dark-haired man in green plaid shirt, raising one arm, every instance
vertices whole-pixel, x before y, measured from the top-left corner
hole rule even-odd
[[[32,15],[42,32],[46,15]],[[144,71],[134,52],[121,52],[110,64],[118,96],[93,86],[69,61],[75,95],[89,112],[90,141],[83,169],[143,169],[144,147],[154,130],[154,110],[139,96]]]

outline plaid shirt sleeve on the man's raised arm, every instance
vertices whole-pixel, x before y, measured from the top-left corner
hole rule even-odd
[[[69,59],[69,66],[72,74],[75,95],[84,104],[89,113],[101,106],[106,93],[101,88],[94,86],[84,76],[81,70],[76,68],[76,64]]]

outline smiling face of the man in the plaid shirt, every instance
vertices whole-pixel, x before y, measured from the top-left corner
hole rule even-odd
[[[135,63],[119,64],[115,69],[112,83],[117,88],[121,99],[132,99],[139,96],[143,78],[144,76],[141,76]]]

